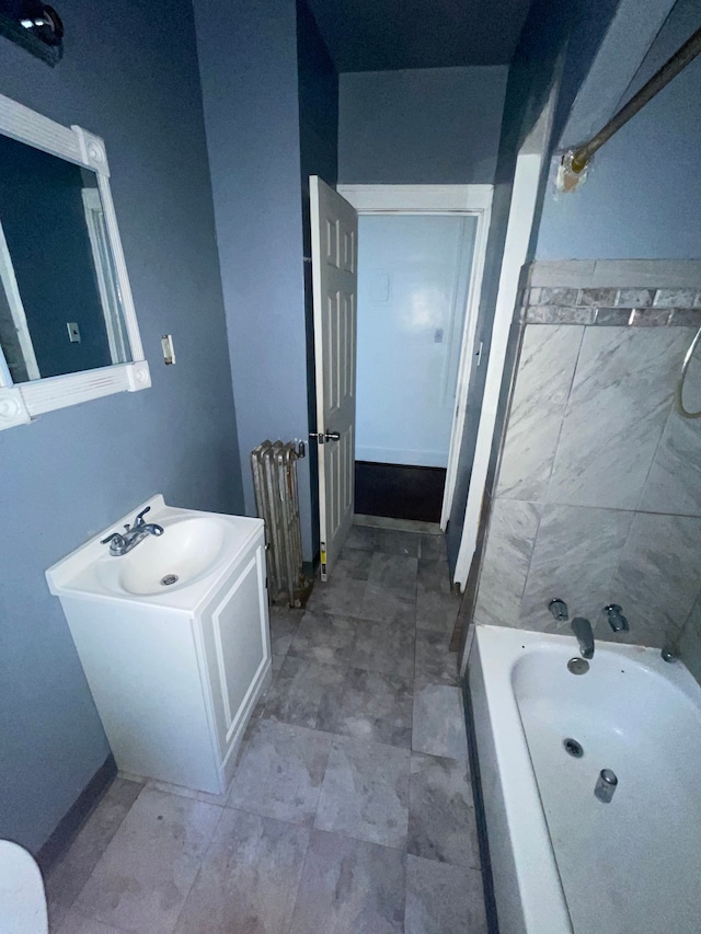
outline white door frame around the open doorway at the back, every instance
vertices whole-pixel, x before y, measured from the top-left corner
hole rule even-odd
[[[474,252],[458,364],[456,411],[450,430],[440,528],[446,531],[458,477],[458,459],[468,408],[468,388],[474,361],[474,334],[482,295],[482,277],[492,216],[494,185],[336,185],[358,215],[458,215],[476,218]],[[359,239],[359,238],[358,238]],[[478,366],[479,366],[478,360]]]

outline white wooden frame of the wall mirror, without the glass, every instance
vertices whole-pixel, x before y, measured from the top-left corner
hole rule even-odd
[[[90,399],[100,399],[115,392],[137,392],[148,389],[151,385],[151,374],[148,361],[143,357],[141,335],[110,192],[110,168],[104,141],[79,126],[65,127],[57,124],[1,94],[0,134],[95,172],[131,353],[129,364],[113,364],[94,370],[81,370],[77,373],[13,383],[2,347],[0,347],[0,429],[3,429],[25,425],[45,412],[77,405]],[[1,284],[0,288],[2,288]]]

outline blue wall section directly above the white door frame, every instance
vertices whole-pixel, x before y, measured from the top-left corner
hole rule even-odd
[[[338,181],[489,184],[508,68],[428,68],[340,77]]]

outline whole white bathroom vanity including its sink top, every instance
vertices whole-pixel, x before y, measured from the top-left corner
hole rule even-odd
[[[151,505],[162,535],[112,557],[108,529],[49,568],[49,589],[117,766],[222,793],[271,679],[263,522]]]

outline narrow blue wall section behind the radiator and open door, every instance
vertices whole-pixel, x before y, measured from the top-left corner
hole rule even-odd
[[[307,337],[295,0],[195,0],[245,506],[250,451],[306,438]],[[309,459],[299,464],[312,554]]]

